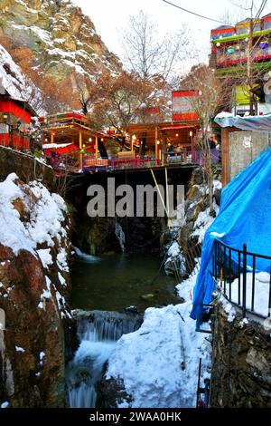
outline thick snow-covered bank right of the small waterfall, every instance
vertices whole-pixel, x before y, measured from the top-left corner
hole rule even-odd
[[[123,383],[128,399],[118,406],[136,408],[194,407],[199,359],[202,375],[210,373],[210,344],[195,332],[190,293],[196,273],[180,285],[187,302],[145,311],[144,323],[126,334],[110,355],[107,380]],[[155,368],[152,366],[155,365]]]

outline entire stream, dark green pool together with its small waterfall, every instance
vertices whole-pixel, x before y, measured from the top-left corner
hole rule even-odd
[[[77,320],[79,349],[67,366],[71,408],[95,408],[97,383],[117,340],[137,330],[149,306],[178,304],[175,281],[161,271],[154,255],[92,257],[76,249],[71,278],[71,305]],[[144,267],[142,267],[144,266]],[[139,314],[125,312],[136,306]]]

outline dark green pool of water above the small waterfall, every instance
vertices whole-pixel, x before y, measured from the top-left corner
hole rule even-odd
[[[71,305],[73,309],[122,312],[136,305],[147,307],[180,303],[174,293],[176,283],[164,270],[152,281],[162,259],[155,255],[107,255],[74,260]],[[142,296],[153,295],[144,300]]]

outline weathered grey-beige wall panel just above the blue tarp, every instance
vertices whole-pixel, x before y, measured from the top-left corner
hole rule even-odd
[[[271,146],[271,133],[231,131],[229,133],[229,180],[246,169],[257,156]]]

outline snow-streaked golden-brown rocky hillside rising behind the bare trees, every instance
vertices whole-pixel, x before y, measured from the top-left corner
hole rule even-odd
[[[89,16],[70,0],[0,0],[0,44],[35,85],[51,88],[47,95],[59,90],[62,103],[100,70],[121,69]]]

